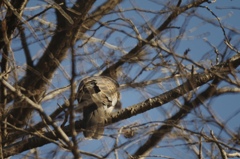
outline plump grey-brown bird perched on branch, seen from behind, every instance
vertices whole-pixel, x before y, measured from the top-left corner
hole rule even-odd
[[[119,84],[108,76],[87,77],[80,82],[76,98],[83,112],[84,137],[102,138],[105,119],[121,108]]]

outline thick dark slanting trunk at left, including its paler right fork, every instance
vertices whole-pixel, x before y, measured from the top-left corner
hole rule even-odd
[[[36,102],[39,101],[40,97],[42,97],[42,94],[46,90],[47,84],[50,83],[49,80],[52,78],[55,70],[59,67],[61,61],[66,57],[67,50],[70,46],[74,44],[79,37],[81,37],[81,34],[92,27],[92,25],[96,23],[96,20],[99,20],[102,16],[104,16],[104,14],[111,11],[118,3],[121,2],[121,0],[107,1],[102,7],[100,7],[100,9],[93,12],[92,17],[95,18],[94,20],[86,20],[86,15],[94,2],[95,0],[77,1],[77,4],[74,5],[71,11],[68,11],[68,9],[64,10],[64,12],[70,14],[72,19],[74,19],[73,25],[68,23],[69,19],[65,19],[66,16],[63,17],[62,12],[60,13],[56,11],[58,25],[55,35],[52,37],[50,44],[35,66],[35,69],[31,73],[27,74],[20,82],[20,85],[28,90],[28,92],[23,92],[26,96],[34,99]],[[61,6],[63,8],[65,7],[64,5]],[[59,8],[57,10],[59,10]],[[77,11],[78,14],[74,14],[73,11]],[[103,15],[98,15],[100,13]],[[18,105],[19,104],[20,103],[18,103]],[[8,122],[21,127],[24,125],[24,122],[16,123],[16,119],[17,121],[25,121],[30,117],[32,109],[26,108],[24,111],[21,107],[19,109],[12,110]]]

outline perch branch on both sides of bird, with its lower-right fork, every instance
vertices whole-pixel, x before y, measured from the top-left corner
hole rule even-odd
[[[193,90],[196,87],[199,87],[203,84],[206,84],[208,81],[213,80],[215,78],[217,78],[216,76],[216,70],[218,70],[217,72],[221,72],[221,73],[228,73],[227,70],[229,69],[228,66],[232,65],[234,67],[237,67],[240,64],[240,57],[239,56],[235,56],[232,59],[230,59],[228,62],[222,63],[220,65],[214,66],[212,69],[209,69],[208,73],[205,74],[197,74],[194,75],[194,78],[192,78],[191,80],[186,81],[184,84],[176,87],[173,90],[170,90],[168,92],[165,92],[164,94],[161,94],[159,96],[150,98],[142,103],[133,105],[131,107],[127,107],[123,110],[120,110],[116,113],[114,113],[113,115],[111,115],[108,119],[106,119],[106,124],[105,125],[109,125],[112,123],[116,123],[118,121],[121,121],[123,119],[127,119],[129,117],[132,117],[134,115],[140,114],[142,112],[145,112],[147,110],[150,110],[154,107],[159,107],[162,106],[163,104],[178,98],[182,95],[184,95],[185,93]],[[222,71],[220,71],[222,70]],[[152,135],[152,137],[148,140],[148,142],[143,145],[142,147],[139,148],[138,151],[136,151],[136,153],[134,154],[134,156],[139,156],[139,155],[147,155],[149,154],[150,150],[152,149],[153,146],[155,146],[163,137],[166,133],[170,132],[173,128],[174,125],[178,124],[179,121],[184,118],[192,109],[196,108],[197,106],[199,106],[204,100],[208,99],[209,97],[211,97],[215,91],[216,91],[216,84],[218,83],[218,80],[214,80],[213,83],[208,87],[208,89],[206,89],[204,92],[202,92],[198,97],[196,97],[195,100],[193,100],[192,102],[186,102],[184,107],[182,109],[180,109],[180,111],[178,113],[176,113],[174,116],[172,116],[171,118],[169,118],[166,123],[166,125],[160,127],[158,130],[156,130],[156,133],[154,133]],[[77,121],[75,123],[75,128],[78,130],[78,132],[81,132],[81,128],[82,128],[82,121]],[[70,133],[70,126],[65,126],[64,128],[64,132],[67,135],[71,135]],[[159,135],[159,133],[161,132],[162,135]],[[53,140],[56,140],[56,136],[53,136],[52,132],[51,133],[46,133],[45,134],[46,137],[51,138]],[[33,147],[39,147],[42,145],[45,145],[49,143],[49,141],[45,140],[45,139],[40,139],[40,138],[32,138],[29,139],[28,142],[19,142],[16,143],[19,147],[18,151],[14,151],[11,150],[12,148],[10,147],[6,147],[4,149],[4,156],[10,156],[19,152],[23,152],[29,149],[29,145],[31,145],[31,148]],[[28,145],[28,146],[27,146]],[[13,147],[14,148],[14,147]]]

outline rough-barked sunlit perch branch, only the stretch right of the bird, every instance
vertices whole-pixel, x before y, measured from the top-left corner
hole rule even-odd
[[[109,119],[108,123],[115,123],[120,120],[126,119],[129,116],[134,116],[134,115],[143,113],[147,110],[150,110],[152,108],[156,108],[158,106],[166,104],[169,101],[172,101],[173,99],[176,99],[186,94],[187,92],[190,92],[195,88],[202,86],[203,84],[206,84],[207,82],[215,79],[218,76],[222,77],[223,74],[226,75],[230,73],[239,65],[240,65],[240,56],[236,55],[231,59],[229,59],[227,62],[224,62],[220,65],[216,65],[211,69],[206,70],[202,74],[193,75],[185,83],[168,92],[165,92],[153,98],[149,98],[142,103],[139,103],[118,111],[117,114],[114,114]]]

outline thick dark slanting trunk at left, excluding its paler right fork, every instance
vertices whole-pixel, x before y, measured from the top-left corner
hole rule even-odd
[[[46,91],[47,84],[50,83],[49,80],[52,78],[55,70],[58,68],[60,62],[66,57],[70,46],[75,43],[77,39],[76,34],[78,33],[79,28],[82,27],[82,23],[86,19],[86,15],[94,2],[95,0],[83,0],[81,1],[82,4],[78,5],[79,8],[76,8],[76,5],[74,5],[73,8],[80,10],[81,14],[72,15],[74,19],[73,25],[69,24],[68,19],[65,19],[60,12],[56,11],[58,20],[57,29],[55,31],[56,33],[46,48],[43,56],[35,66],[34,71],[28,73],[19,83],[25,88],[25,90],[27,90],[23,91],[23,94],[30,97],[30,99],[35,102],[39,102],[39,99]],[[11,111],[8,122],[17,127],[22,127],[26,124],[26,120],[30,118],[33,109],[19,100],[14,102],[15,107],[20,106]],[[26,107],[22,108],[21,105],[25,105]]]

